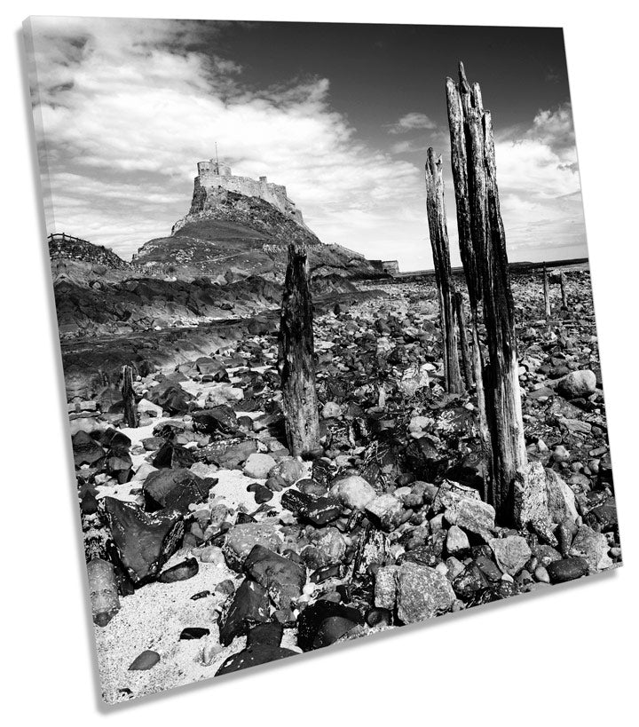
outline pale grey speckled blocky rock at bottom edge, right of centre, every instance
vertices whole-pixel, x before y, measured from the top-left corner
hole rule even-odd
[[[398,617],[415,623],[446,613],[455,600],[445,575],[427,565],[403,563],[398,567]]]

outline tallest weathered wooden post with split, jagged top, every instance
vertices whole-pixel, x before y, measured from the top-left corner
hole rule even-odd
[[[517,470],[527,464],[517,364],[517,339],[506,235],[501,221],[493,124],[484,109],[478,83],[470,88],[463,65],[460,82],[446,80],[453,172],[463,167],[464,224],[469,227],[472,255],[462,255],[467,280],[477,275],[483,303],[488,363],[484,369],[486,422],[492,446],[490,496],[503,518],[512,515],[511,495]],[[461,156],[463,150],[463,156]],[[459,217],[459,212],[458,212]],[[468,238],[464,238],[466,242]],[[461,231],[460,231],[461,241]],[[475,291],[477,296],[477,290]]]

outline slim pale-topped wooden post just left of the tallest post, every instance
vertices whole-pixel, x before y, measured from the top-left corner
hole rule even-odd
[[[426,209],[428,212],[430,246],[435,264],[435,281],[439,294],[439,325],[442,332],[444,375],[446,391],[459,394],[463,391],[457,352],[457,332],[454,323],[454,288],[450,269],[450,249],[446,228],[444,203],[444,178],[441,156],[436,157],[432,146],[426,162]]]

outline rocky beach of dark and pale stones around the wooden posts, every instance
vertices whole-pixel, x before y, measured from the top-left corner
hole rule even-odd
[[[87,560],[107,564],[90,578],[106,701],[619,565],[588,270],[567,279],[570,311],[554,320],[540,275],[513,279],[548,533],[500,523],[485,502],[476,401],[443,386],[432,279],[361,281],[316,315],[321,446],[304,460],[287,448],[277,326],[251,334],[255,317],[209,345],[206,326],[188,329],[191,357],[138,360],[136,427],[116,380],[75,396]]]

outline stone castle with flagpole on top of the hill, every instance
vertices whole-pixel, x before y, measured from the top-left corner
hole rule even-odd
[[[286,187],[274,185],[265,177],[260,177],[258,180],[249,177],[235,177],[228,164],[209,159],[206,162],[198,162],[198,176],[195,178],[196,190],[198,186],[207,189],[222,188],[228,192],[244,194],[247,197],[260,197],[283,214],[293,217],[299,225],[304,225],[302,212],[296,208],[295,202],[288,199]]]

